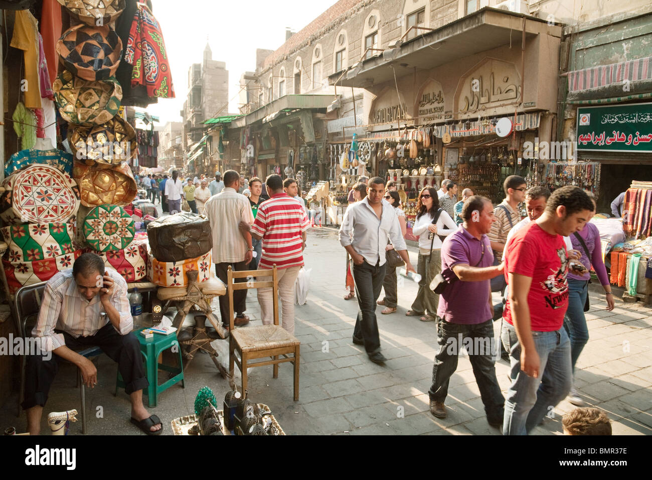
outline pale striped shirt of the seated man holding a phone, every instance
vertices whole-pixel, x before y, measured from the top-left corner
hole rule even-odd
[[[107,267],[106,275],[113,279],[111,305],[120,312],[120,328],[117,332],[126,335],[134,328],[126,295],[126,281],[113,268]],[[72,268],[62,270],[48,280],[45,286],[32,336],[44,339],[42,348],[45,351],[63,347],[63,334],[56,333],[55,330],[68,332],[74,338],[95,335],[100,328],[110,323],[108,315],[100,315],[100,312],[104,312],[100,296],[96,295],[90,302],[83,298],[72,276]]]

